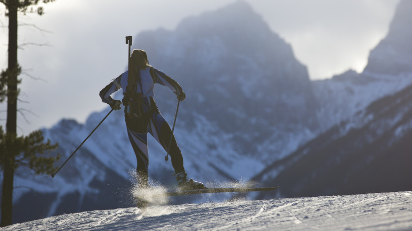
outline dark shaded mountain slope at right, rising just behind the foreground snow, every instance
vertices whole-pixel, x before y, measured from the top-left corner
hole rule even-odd
[[[282,197],[411,190],[411,139],[412,85],[374,101],[254,180],[281,185]]]

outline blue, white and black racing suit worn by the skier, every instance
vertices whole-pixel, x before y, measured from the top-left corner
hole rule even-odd
[[[180,85],[175,80],[159,70],[152,67],[147,67],[145,70],[140,70],[139,72],[140,79],[137,79],[137,92],[141,92],[142,95],[141,102],[143,115],[140,117],[131,115],[133,113],[130,113],[130,108],[128,108],[128,105],[125,105],[124,111],[129,140],[137,158],[139,183],[143,184],[142,186],[145,186],[147,185],[147,168],[149,164],[147,133],[150,133],[150,135],[154,137],[154,139],[164,148],[166,152],[169,149],[168,146],[171,139],[169,155],[171,157],[172,166],[175,173],[184,172],[183,157],[180,149],[177,146],[170,126],[160,114],[156,103],[154,102],[154,83],[159,83],[169,87],[176,95],[184,93]],[[128,71],[115,78],[115,80],[100,91],[102,101],[111,104],[114,99],[110,95],[120,88],[123,89],[125,94],[127,85]],[[136,114],[137,112],[135,115]]]

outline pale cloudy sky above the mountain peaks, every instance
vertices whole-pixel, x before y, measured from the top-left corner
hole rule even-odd
[[[127,66],[125,36],[174,30],[179,22],[236,0],[56,0],[42,16],[19,15],[23,68],[18,133],[62,118],[84,123],[100,111],[99,91]],[[388,33],[399,0],[244,0],[292,47],[312,80],[362,72]],[[116,3],[114,3],[116,2]],[[0,4],[0,69],[7,67],[8,19]],[[135,45],[135,44],[134,44]],[[158,67],[161,69],[161,67]],[[164,70],[167,72],[167,70]],[[5,124],[5,103],[0,125]],[[118,112],[119,113],[119,112]]]

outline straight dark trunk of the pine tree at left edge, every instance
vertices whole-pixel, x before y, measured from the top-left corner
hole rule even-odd
[[[17,128],[17,5],[8,5],[8,82],[6,135],[15,136]],[[8,139],[7,139],[8,140]],[[11,225],[15,149],[7,147],[1,196],[1,227]]]

